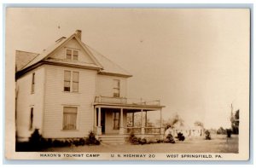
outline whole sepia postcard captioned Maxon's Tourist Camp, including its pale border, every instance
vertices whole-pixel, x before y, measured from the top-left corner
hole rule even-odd
[[[6,8],[6,159],[249,159],[250,12]]]

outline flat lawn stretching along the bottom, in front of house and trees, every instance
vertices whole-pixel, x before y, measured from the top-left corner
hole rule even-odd
[[[73,153],[238,153],[238,136],[232,135],[227,141],[224,135],[212,135],[212,140],[204,137],[185,139],[176,143],[154,143],[145,145],[101,144],[99,146],[79,146],[65,148],[47,148],[43,152]]]

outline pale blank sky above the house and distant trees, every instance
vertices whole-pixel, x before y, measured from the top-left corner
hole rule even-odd
[[[230,128],[231,103],[249,113],[249,21],[247,9],[7,9],[6,58],[80,29],[133,75],[128,97],[160,99],[164,119]]]

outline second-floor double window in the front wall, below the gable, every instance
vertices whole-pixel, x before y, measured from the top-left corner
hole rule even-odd
[[[79,72],[64,71],[64,91],[79,92]]]

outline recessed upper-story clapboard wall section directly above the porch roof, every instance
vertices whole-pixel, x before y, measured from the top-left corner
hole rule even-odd
[[[113,96],[113,79],[120,80],[120,97],[127,96],[127,78],[100,74],[97,77],[97,96]]]

